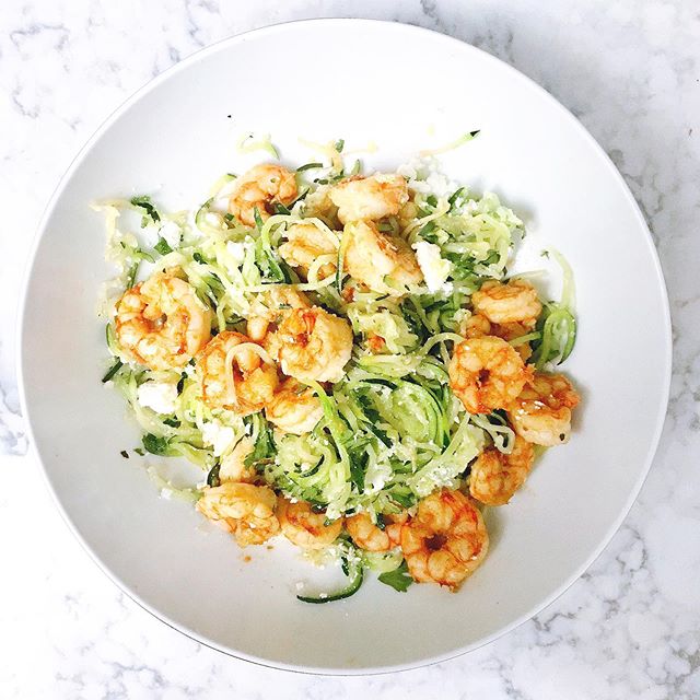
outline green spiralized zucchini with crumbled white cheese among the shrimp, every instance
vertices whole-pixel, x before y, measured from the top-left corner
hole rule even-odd
[[[266,139],[248,139],[243,148],[273,151]],[[319,188],[345,175],[341,150],[341,143],[320,149],[330,164],[300,167],[298,200],[278,206],[266,221],[256,212],[254,228],[226,212],[232,174],[217,180],[191,213],[167,214],[148,197],[100,205],[107,223],[107,257],[117,268],[100,310],[113,355],[103,381],[113,383],[129,402],[144,432],[140,448],[186,457],[209,474],[210,486],[218,482],[221,460],[247,436],[254,451],[246,465],[278,492],[324,509],[329,520],[358,512],[376,518],[412,509],[435,489],[458,488],[486,445],[504,454],[513,450],[513,430],[499,412],[465,411],[448,387],[446,366],[454,343],[462,340],[470,294],[486,280],[504,278],[523,223],[493,194],[479,197],[464,187],[432,192],[427,189],[430,180],[416,175],[409,182],[416,215],[401,225],[396,217],[388,218],[380,230],[404,235],[408,244],[438,246],[451,264],[446,285],[440,291],[418,285],[404,296],[358,285],[347,293],[347,242],[328,226],[327,218],[315,215]],[[305,215],[307,211],[314,215]],[[300,222],[316,226],[338,247],[337,255],[318,256],[305,280],[279,255],[287,231]],[[562,300],[546,306],[529,336],[513,341],[534,341],[538,368],[565,360],[575,339],[571,271],[561,256],[552,255],[564,272]],[[323,273],[329,265],[334,272]],[[241,418],[208,408],[194,361],[182,371],[166,372],[129,361],[112,325],[115,302],[154,271],[170,269],[177,269],[212,310],[213,334],[245,332],[246,319],[266,304],[264,293],[276,288],[305,292],[312,303],[350,322],[354,345],[345,376],[334,385],[310,384],[323,407],[313,431],[285,434],[275,430],[264,412]],[[378,349],[372,345],[376,338]],[[140,388],[149,382],[175,387],[167,415],[140,402]],[[375,556],[370,563],[388,573],[400,564],[400,556]]]

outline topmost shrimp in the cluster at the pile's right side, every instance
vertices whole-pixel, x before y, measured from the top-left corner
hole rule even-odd
[[[541,314],[542,305],[537,290],[525,280],[502,282],[489,281],[471,295],[477,314],[486,316],[492,324],[522,324],[533,328]]]

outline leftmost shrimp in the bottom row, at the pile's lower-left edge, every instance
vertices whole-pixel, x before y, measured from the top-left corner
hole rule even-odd
[[[272,489],[233,481],[205,489],[197,501],[197,510],[209,520],[220,522],[241,547],[261,545],[279,533],[276,505]]]

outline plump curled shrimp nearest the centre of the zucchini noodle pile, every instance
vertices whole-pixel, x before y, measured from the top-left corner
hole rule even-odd
[[[347,320],[318,306],[292,308],[266,347],[288,376],[339,382],[352,354],[352,330]]]

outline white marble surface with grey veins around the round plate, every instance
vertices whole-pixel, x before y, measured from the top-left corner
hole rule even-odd
[[[654,232],[676,340],[668,420],[638,503],[591,571],[505,638],[406,674],[312,678],[229,658],[142,611],[72,540],[34,460],[0,457],[0,697],[700,697],[696,0],[3,0],[0,453],[26,452],[20,280],[42,208],[80,145],[133,90],[202,46],[351,15],[435,28],[512,63],[572,109],[625,175]]]

